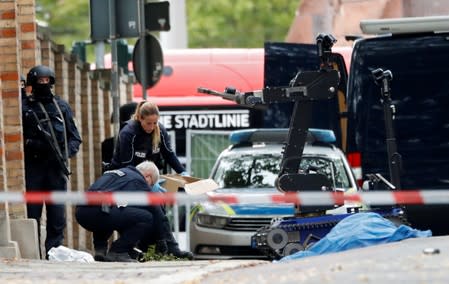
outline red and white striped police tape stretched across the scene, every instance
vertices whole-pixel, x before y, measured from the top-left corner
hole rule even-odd
[[[242,203],[294,203],[297,205],[333,205],[344,202],[360,202],[367,205],[449,204],[449,189],[442,190],[399,190],[399,191],[360,191],[357,193],[337,192],[288,192],[258,194],[219,194],[209,193],[188,195],[186,193],[147,193],[147,192],[0,192],[0,202],[8,203],[48,203],[73,205],[128,204],[185,205],[196,202]]]

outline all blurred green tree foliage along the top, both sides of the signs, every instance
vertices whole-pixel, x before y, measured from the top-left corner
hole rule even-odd
[[[265,41],[283,41],[300,2],[185,1],[189,47],[263,47]],[[36,0],[37,17],[48,23],[53,40],[70,50],[73,42],[89,39],[89,2]]]

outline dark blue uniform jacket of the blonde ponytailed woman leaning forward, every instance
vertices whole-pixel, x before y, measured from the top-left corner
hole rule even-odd
[[[125,122],[120,130],[118,143],[112,157],[112,167],[121,168],[127,165],[138,165],[148,160],[162,168],[162,158],[177,172],[185,171],[176,154],[171,148],[168,132],[158,123],[161,132],[161,142],[157,147],[151,143],[151,134],[143,130],[140,122],[134,119]]]

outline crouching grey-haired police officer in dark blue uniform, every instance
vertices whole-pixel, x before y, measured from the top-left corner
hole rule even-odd
[[[152,184],[159,178],[159,171],[153,162],[144,161],[136,167],[106,171],[92,184],[88,191],[123,192],[146,191],[152,192]],[[126,204],[103,206],[77,206],[76,220],[88,231],[93,233],[95,260],[136,262],[130,256],[135,247],[146,251],[151,242],[160,243],[170,239],[168,218],[161,206],[131,206]],[[118,231],[119,238],[108,250],[108,239],[113,231]],[[191,258],[190,252],[182,252],[181,257]]]

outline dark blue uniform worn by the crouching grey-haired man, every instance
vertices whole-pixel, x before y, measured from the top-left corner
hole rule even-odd
[[[128,166],[106,171],[88,191],[131,192],[151,191],[143,175]],[[157,232],[166,218],[160,206],[77,206],[76,219],[86,230],[93,232],[95,250],[106,249],[107,240],[114,230],[120,238],[114,241],[110,251],[129,252],[144,236]]]

